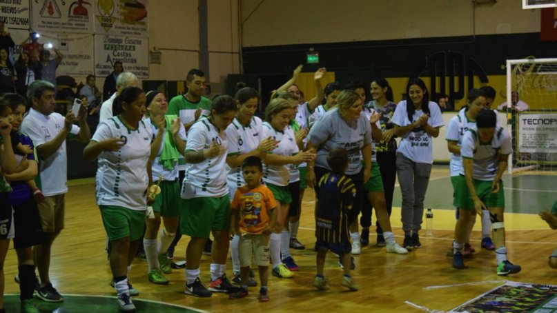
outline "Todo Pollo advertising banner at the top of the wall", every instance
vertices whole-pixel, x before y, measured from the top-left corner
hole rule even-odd
[[[148,37],[148,0],[95,0],[95,34]]]

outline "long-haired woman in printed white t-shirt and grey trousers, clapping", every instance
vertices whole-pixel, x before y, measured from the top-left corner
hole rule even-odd
[[[424,214],[424,198],[433,164],[433,138],[439,136],[443,118],[439,105],[429,101],[429,92],[421,79],[410,79],[407,100],[396,106],[391,121],[400,137],[396,169],[402,192],[402,230],[404,248],[419,248]]]

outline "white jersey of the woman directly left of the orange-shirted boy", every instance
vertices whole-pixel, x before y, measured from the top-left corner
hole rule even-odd
[[[226,150],[228,147],[226,130],[219,130],[208,118],[202,117],[188,131],[186,153],[207,149],[211,147],[213,141],[217,145],[222,145]],[[182,199],[206,196],[220,198],[226,194],[228,194],[226,153],[190,164],[186,168],[186,176],[182,184]]]

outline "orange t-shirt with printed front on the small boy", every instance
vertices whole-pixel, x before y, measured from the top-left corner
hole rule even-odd
[[[240,210],[240,232],[261,234],[271,220],[269,211],[277,204],[265,185],[253,189],[244,185],[236,190],[231,206],[232,210]]]

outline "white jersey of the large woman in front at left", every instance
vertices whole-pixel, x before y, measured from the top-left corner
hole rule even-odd
[[[117,151],[99,154],[95,177],[97,205],[116,205],[134,211],[146,210],[146,192],[149,185],[147,162],[153,131],[145,121],[139,121],[137,130],[130,130],[119,117],[101,122],[92,141],[119,138],[124,145]]]

